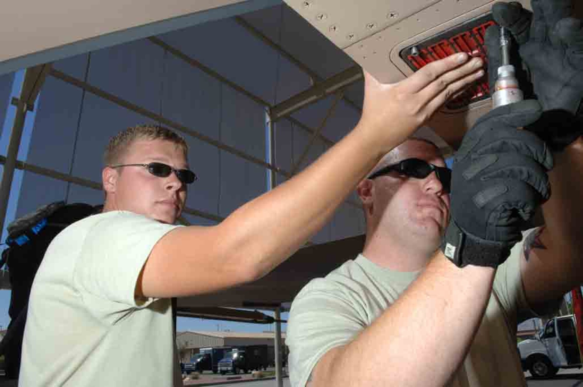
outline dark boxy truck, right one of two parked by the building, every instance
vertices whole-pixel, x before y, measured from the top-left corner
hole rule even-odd
[[[269,365],[268,347],[266,345],[237,347],[225,353],[219,361],[219,372],[226,374],[233,372],[245,374],[252,370],[266,370]]]

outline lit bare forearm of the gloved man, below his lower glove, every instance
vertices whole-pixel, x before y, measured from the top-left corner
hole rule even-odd
[[[321,358],[308,385],[445,385],[482,321],[494,272],[472,265],[457,268],[438,253],[372,325]],[[370,361],[370,353],[382,361]]]

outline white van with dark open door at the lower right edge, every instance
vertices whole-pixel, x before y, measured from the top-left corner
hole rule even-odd
[[[550,378],[559,368],[581,368],[581,351],[573,315],[554,317],[534,339],[518,343],[522,369],[533,378]]]

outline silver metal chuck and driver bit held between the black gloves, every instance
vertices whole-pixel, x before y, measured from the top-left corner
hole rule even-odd
[[[500,27],[500,67],[498,67],[498,79],[494,84],[492,94],[493,108],[524,99],[515,76],[514,66],[510,64],[510,44],[510,34],[504,27]]]

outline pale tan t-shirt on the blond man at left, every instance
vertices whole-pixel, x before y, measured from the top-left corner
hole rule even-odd
[[[30,293],[20,386],[182,386],[170,300],[134,297],[175,227],[116,211],[57,235]]]

